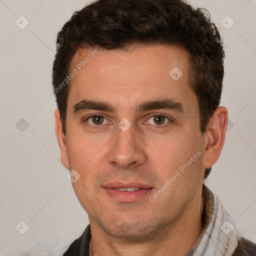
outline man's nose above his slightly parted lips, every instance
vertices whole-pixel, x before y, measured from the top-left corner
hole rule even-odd
[[[130,165],[140,165],[145,161],[145,145],[138,132],[135,134],[133,126],[126,131],[117,127],[117,134],[111,141],[108,162],[115,167],[128,168]]]

